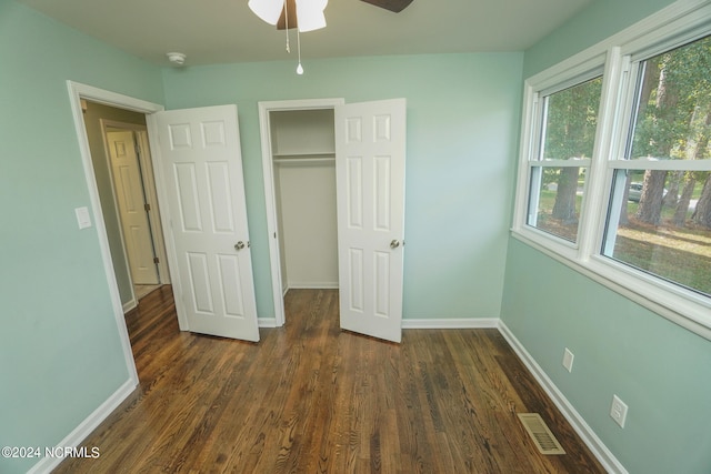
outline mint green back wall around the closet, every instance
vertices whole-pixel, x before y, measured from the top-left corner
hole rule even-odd
[[[408,100],[405,319],[497,317],[521,102],[520,53],[167,70],[166,108],[237,103],[260,317],[273,317],[258,101]]]

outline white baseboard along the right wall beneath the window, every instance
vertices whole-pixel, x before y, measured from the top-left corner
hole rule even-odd
[[[578,433],[582,438],[582,442],[590,451],[592,451],[592,454],[598,458],[605,471],[613,474],[628,474],[624,466],[617,457],[614,457],[612,452],[608,450],[604,443],[602,443],[602,440],[600,440],[588,423],[585,423],[583,417],[578,413],[573,405],[570,404],[562,392],[558,390],[553,381],[551,381],[545,372],[543,372],[541,366],[533,360],[531,354],[529,354],[525,347],[523,347],[503,321],[499,321],[499,332],[511,345],[513,352],[517,353],[531,374],[533,374],[533,377],[539,385],[541,385],[548,396],[551,397],[558,410],[560,410],[565,420],[568,420],[568,423],[570,423],[573,430],[575,430],[575,433]]]

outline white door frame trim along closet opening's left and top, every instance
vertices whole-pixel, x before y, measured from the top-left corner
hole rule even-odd
[[[269,262],[271,270],[271,289],[274,301],[274,326],[283,326],[284,295],[281,283],[281,254],[279,252],[279,240],[281,233],[277,214],[277,190],[274,188],[274,163],[271,140],[270,112],[336,109],[343,105],[346,99],[300,99],[258,102],[259,105],[259,130],[262,148],[262,174],[264,178],[264,204],[267,210],[267,239],[269,240]],[[336,127],[336,123],[333,123]],[[263,322],[263,320],[260,320]],[[262,325],[262,324],[260,324]],[[262,325],[263,326],[263,325]]]

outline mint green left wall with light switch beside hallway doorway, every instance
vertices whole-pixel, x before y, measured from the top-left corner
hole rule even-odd
[[[68,79],[162,102],[160,72],[0,0],[0,446],[52,446],[129,377]],[[0,472],[36,460],[0,457]]]

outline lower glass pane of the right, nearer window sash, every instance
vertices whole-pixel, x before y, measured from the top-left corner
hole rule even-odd
[[[710,177],[618,170],[602,254],[711,295],[711,226],[697,222]]]

